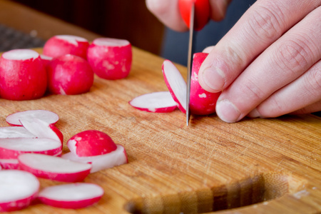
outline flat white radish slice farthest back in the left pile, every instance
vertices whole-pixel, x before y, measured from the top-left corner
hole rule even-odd
[[[10,126],[22,126],[20,120],[33,121],[34,118],[39,118],[41,121],[46,121],[50,124],[55,124],[59,117],[56,113],[46,110],[29,110],[12,113],[6,117],[6,122]]]

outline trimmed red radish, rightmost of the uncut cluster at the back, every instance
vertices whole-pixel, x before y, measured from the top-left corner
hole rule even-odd
[[[124,39],[98,38],[88,47],[87,60],[97,76],[126,78],[131,71],[132,49]]]

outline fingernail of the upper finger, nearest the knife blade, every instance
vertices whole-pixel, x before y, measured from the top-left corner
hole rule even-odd
[[[225,83],[225,75],[219,68],[205,68],[203,82],[213,91],[222,91]]]

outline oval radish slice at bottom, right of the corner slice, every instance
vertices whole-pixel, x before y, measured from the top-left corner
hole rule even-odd
[[[44,188],[38,198],[56,208],[79,209],[98,203],[103,188],[93,183],[68,183]]]

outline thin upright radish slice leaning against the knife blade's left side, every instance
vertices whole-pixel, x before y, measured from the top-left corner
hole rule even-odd
[[[178,104],[180,111],[186,113],[187,86],[183,76],[180,74],[180,71],[178,71],[178,68],[176,68],[175,65],[167,59],[163,62],[162,71],[170,94]]]

